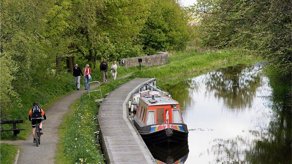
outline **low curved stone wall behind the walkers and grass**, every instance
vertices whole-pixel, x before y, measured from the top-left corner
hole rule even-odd
[[[150,56],[139,56],[134,58],[126,58],[121,59],[119,65],[124,66],[126,68],[132,66],[139,66],[138,59],[142,59],[141,65],[149,66],[149,65],[159,65],[167,62],[168,53],[167,52],[159,52],[158,55],[150,55]]]

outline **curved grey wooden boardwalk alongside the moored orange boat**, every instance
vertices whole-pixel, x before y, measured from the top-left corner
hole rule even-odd
[[[153,156],[130,119],[126,102],[141,84],[153,79],[136,78],[112,91],[101,103],[98,122],[107,163],[154,163]]]

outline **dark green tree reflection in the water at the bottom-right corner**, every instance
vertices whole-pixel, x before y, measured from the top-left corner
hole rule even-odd
[[[246,152],[250,163],[291,163],[291,98],[274,99],[273,116],[260,141]]]

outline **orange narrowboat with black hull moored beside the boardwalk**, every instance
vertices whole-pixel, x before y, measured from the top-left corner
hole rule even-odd
[[[182,120],[180,104],[168,96],[140,97],[134,125],[147,144],[188,141],[188,128]]]

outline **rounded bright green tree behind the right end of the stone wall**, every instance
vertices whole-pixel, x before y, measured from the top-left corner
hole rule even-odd
[[[149,12],[141,31],[145,53],[185,49],[191,33],[185,10],[173,0],[152,0]]]

